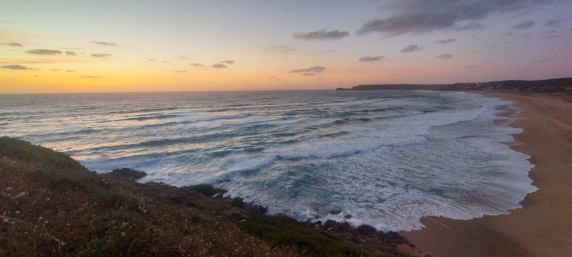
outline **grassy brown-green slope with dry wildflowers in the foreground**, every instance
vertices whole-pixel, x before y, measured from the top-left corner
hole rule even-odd
[[[118,180],[7,137],[0,138],[0,178],[0,256],[397,254],[204,196],[212,187]]]

